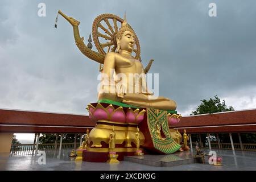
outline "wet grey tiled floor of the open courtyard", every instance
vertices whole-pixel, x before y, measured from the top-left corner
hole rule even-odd
[[[211,166],[209,164],[187,164],[174,167],[153,167],[143,164],[122,161],[118,164],[75,162],[68,157],[68,151],[63,151],[60,159],[55,154],[47,154],[46,164],[39,164],[40,156],[11,156],[9,158],[0,157],[0,170],[83,170],[83,171],[234,171],[234,170],[256,170],[256,152],[236,151],[233,155],[229,150],[215,150],[218,156],[222,156],[222,166]],[[208,154],[209,150],[205,150]]]

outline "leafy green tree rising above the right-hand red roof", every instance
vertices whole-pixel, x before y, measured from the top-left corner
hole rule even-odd
[[[197,107],[197,109],[192,111],[192,114],[190,115],[220,113],[234,110],[232,106],[228,108],[224,100],[221,102],[217,95],[209,100],[201,100],[201,102],[202,103]]]

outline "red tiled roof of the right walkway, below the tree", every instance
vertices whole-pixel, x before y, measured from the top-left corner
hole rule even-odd
[[[187,116],[173,128],[190,133],[256,131],[256,109]]]

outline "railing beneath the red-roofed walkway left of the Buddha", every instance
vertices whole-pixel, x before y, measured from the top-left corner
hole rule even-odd
[[[74,143],[62,143],[61,150],[62,149],[72,149],[74,148]],[[76,144],[76,148],[79,147],[79,143]],[[59,150],[60,144],[57,143],[44,143],[44,144],[38,144],[38,151],[45,151],[51,152],[53,150]],[[35,154],[36,150],[36,144],[13,144],[11,146],[10,156],[17,156],[17,155],[33,155]]]

